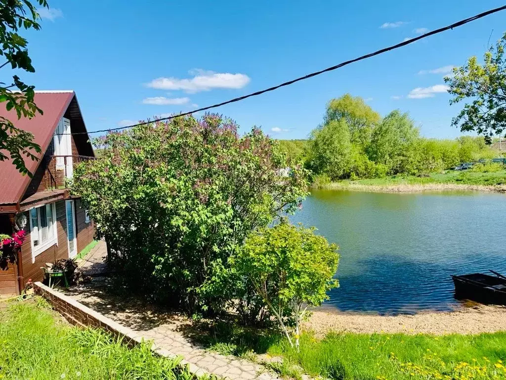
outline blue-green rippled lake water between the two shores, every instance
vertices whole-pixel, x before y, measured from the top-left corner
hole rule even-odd
[[[313,191],[291,219],[340,246],[326,307],[382,314],[451,310],[451,274],[506,274],[506,196]]]

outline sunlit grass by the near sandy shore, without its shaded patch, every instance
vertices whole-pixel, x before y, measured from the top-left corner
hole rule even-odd
[[[445,374],[459,378],[454,376],[454,368],[460,363],[487,365],[487,376],[495,369],[498,370],[497,378],[506,378],[506,372],[494,365],[497,363],[500,367],[499,360],[506,362],[506,333],[441,337],[334,333],[323,340],[305,334],[299,353],[284,340],[270,347],[268,352],[283,355],[309,373],[336,379],[425,379],[431,378],[425,374],[431,372],[432,378],[437,378],[437,374],[442,378]],[[442,365],[440,360],[445,364]],[[410,365],[418,366],[420,373],[405,371]]]

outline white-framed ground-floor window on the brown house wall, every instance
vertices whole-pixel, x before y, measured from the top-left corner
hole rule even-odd
[[[32,208],[29,212],[32,262],[35,262],[35,256],[44,252],[58,240],[56,232],[56,208],[55,204],[51,203]]]

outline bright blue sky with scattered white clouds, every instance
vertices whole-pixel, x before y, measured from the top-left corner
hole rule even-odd
[[[88,130],[214,104],[375,51],[501,1],[69,2],[49,0],[25,33],[39,90],[77,93]],[[346,92],[382,115],[408,111],[427,137],[456,137],[447,66],[482,57],[506,11],[394,52],[219,108],[248,130],[305,138]],[[4,75],[8,72],[4,71]],[[443,92],[442,92],[443,91]]]

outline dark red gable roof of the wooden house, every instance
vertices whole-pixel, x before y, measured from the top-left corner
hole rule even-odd
[[[44,114],[36,113],[32,119],[21,118],[18,120],[14,110],[7,111],[5,105],[0,104],[0,116],[11,120],[16,128],[33,134],[33,141],[40,145],[42,152],[38,155],[38,161],[31,161],[25,158],[26,168],[35,173],[37,167],[44,157],[54,131],[58,126],[60,119],[64,115],[71,117],[71,132],[86,132],[86,126],[82,120],[82,115],[77,103],[77,98],[73,91],[40,91],[35,92],[35,104]],[[88,134],[74,135],[74,139],[89,140]],[[90,143],[90,156],[94,156],[93,148]],[[0,161],[0,204],[17,204],[28,187],[31,178],[27,175],[21,175],[12,161]]]

